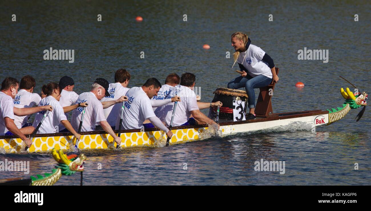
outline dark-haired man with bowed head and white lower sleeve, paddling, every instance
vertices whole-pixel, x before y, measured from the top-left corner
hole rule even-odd
[[[147,119],[168,137],[173,136],[171,130],[167,129],[153,112],[151,98],[158,93],[161,83],[156,78],[148,79],[142,87],[133,87],[126,92],[128,101],[124,103],[124,116],[122,118],[123,129],[142,129],[143,122]],[[116,128],[119,128],[119,118],[116,120]]]

